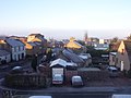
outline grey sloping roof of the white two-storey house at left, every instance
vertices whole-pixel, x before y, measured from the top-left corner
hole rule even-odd
[[[25,46],[21,40],[17,39],[5,39],[5,41],[11,46],[11,47],[16,47],[16,46]]]

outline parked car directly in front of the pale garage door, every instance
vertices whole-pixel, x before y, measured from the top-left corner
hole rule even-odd
[[[62,74],[55,74],[52,77],[52,84],[63,84],[63,76]]]

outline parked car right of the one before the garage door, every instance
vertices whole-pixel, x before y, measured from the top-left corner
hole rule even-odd
[[[79,76],[79,75],[72,76],[71,84],[72,84],[73,87],[83,86],[82,77]]]

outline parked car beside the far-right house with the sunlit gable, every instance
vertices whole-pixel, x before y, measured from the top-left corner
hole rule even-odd
[[[109,72],[109,76],[110,77],[118,77],[119,76],[119,71],[118,71],[117,68],[115,68],[115,66],[108,66],[107,70]]]

